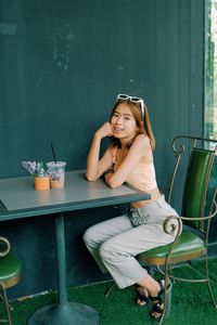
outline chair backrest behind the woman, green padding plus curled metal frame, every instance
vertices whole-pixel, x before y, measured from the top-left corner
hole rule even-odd
[[[187,167],[182,193],[181,216],[189,218],[200,218],[204,217],[208,183],[214,166],[215,155],[217,152],[217,140],[209,140],[189,135],[178,135],[174,139],[173,151],[177,157],[177,162],[171,178],[168,202],[170,202],[174,182],[181,159],[181,155],[184,152],[184,145],[180,145],[180,142],[182,143],[182,141],[184,142],[186,140],[191,141],[191,154]],[[214,144],[214,148],[206,150],[204,147],[199,147],[197,141],[202,145],[205,142],[210,142]],[[177,143],[179,143],[180,145],[179,150],[176,148]],[[188,221],[188,224],[199,230],[204,230],[204,223],[202,221]]]

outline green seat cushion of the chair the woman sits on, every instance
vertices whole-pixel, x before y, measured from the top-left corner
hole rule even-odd
[[[153,265],[162,265],[165,263],[170,247],[171,244],[168,244],[143,251],[137,256],[137,259]],[[170,262],[173,263],[188,261],[203,256],[205,252],[206,247],[203,239],[189,231],[182,231],[169,257]]]

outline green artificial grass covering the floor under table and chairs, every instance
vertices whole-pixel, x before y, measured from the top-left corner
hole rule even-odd
[[[197,276],[203,272],[202,265],[203,262],[194,264],[199,270],[196,272]],[[212,286],[217,300],[217,259],[209,261],[209,270]],[[193,274],[189,265],[178,268],[174,273],[179,276],[191,276]],[[133,287],[120,290],[114,286],[108,297],[105,298],[104,294],[112,283],[106,282],[69,288],[68,300],[95,308],[101,315],[101,325],[156,324],[150,318],[151,304],[140,308],[135,303]],[[26,299],[22,302],[12,302],[14,308],[12,311],[13,325],[25,325],[28,317],[36,310],[56,301],[56,294],[49,294]],[[171,311],[165,321],[166,325],[217,324],[217,309],[212,303],[206,284],[176,283],[173,287],[171,301]],[[0,309],[2,309],[2,306],[0,306]]]

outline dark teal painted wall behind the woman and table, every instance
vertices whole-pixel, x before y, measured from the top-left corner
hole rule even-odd
[[[203,133],[203,0],[1,0],[0,177],[26,174],[24,159],[51,160],[51,142],[67,170],[85,168],[95,128],[126,92],[146,102],[165,190],[171,139]],[[102,278],[81,234],[114,213],[68,216],[69,285]],[[53,216],[4,223],[1,233],[24,261],[14,295],[54,287]]]

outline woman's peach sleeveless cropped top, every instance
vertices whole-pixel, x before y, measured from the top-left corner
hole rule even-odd
[[[119,162],[116,160],[117,146],[112,150],[113,157],[113,169],[114,171],[118,169]],[[139,162],[135,169],[129,173],[126,179],[126,183],[139,188],[140,191],[146,192],[157,187],[155,168],[153,162],[144,164]]]

